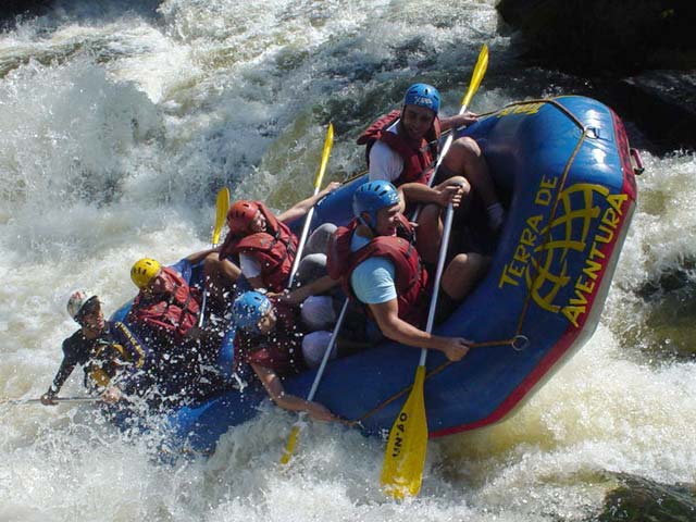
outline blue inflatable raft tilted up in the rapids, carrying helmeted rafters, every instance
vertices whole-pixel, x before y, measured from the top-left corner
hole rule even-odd
[[[498,244],[488,246],[495,252],[489,272],[435,330],[472,339],[475,348],[457,363],[428,355],[432,438],[506,419],[592,336],[635,208],[632,159],[639,167],[621,120],[589,98],[512,103],[459,135],[480,144],[509,204]],[[364,182],[322,200],[313,225],[346,224],[352,194]],[[223,350],[227,368],[231,341]],[[315,400],[365,434],[384,434],[408,396],[419,355],[389,341],[331,361]],[[284,385],[307,396],[314,373]],[[182,408],[170,417],[174,442],[209,452],[263,400],[251,378],[241,390]]]

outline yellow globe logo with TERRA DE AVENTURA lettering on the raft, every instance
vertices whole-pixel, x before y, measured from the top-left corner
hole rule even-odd
[[[558,185],[558,177],[542,178],[498,287],[523,284],[538,307],[579,327],[630,200],[604,185],[579,183],[560,191]]]

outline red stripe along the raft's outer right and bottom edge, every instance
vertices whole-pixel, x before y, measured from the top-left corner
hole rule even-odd
[[[629,196],[629,199],[626,199],[624,204],[622,204],[621,226],[617,227],[617,231],[620,231],[621,228],[623,228],[623,226],[625,226],[625,216],[631,208],[631,200],[635,200],[636,186],[635,176],[633,174],[633,165],[630,159],[629,140],[626,138],[623,123],[613,111],[611,111],[611,114],[614,124],[617,148],[621,158],[621,170],[623,172],[622,191]],[[573,346],[574,340],[582,333],[583,327],[585,326],[585,322],[587,321],[587,316],[589,315],[589,311],[594,306],[597,291],[601,287],[601,282],[604,281],[607,265],[609,264],[609,260],[613,254],[616,243],[619,236],[620,234],[614,234],[610,243],[602,244],[601,248],[599,248],[599,251],[605,256],[604,259],[606,260],[606,262],[602,264],[601,270],[599,271],[599,276],[597,278],[595,289],[587,300],[587,311],[582,314],[577,327],[569,324],[568,330],[560,337],[559,341],[554,345],[554,348],[551,348],[546,357],[544,357],[539,361],[536,368],[534,368],[534,370],[530,372],[530,374],[522,381],[522,383],[520,383],[520,385],[514,388],[512,394],[510,394],[490,415],[469,424],[462,424],[460,426],[434,431],[428,434],[430,438],[453,435],[456,433],[467,432],[469,430],[474,430],[499,422],[532,390],[532,388],[534,388],[534,386],[536,386],[536,384],[544,377],[544,375],[546,375],[546,373],[558,362],[558,360],[563,357],[568,349]]]

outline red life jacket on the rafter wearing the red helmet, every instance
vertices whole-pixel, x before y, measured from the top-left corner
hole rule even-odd
[[[297,252],[297,236],[271,212],[265,204],[254,201],[265,217],[266,231],[245,237],[227,234],[220,258],[232,258],[249,253],[261,265],[263,286],[272,291],[283,291],[293,270]],[[232,237],[231,237],[232,236]]]

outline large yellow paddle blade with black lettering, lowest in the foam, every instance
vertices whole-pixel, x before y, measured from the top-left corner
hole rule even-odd
[[[427,449],[424,381],[425,366],[418,366],[411,394],[389,432],[382,465],[382,488],[394,498],[415,496],[421,490]]]

